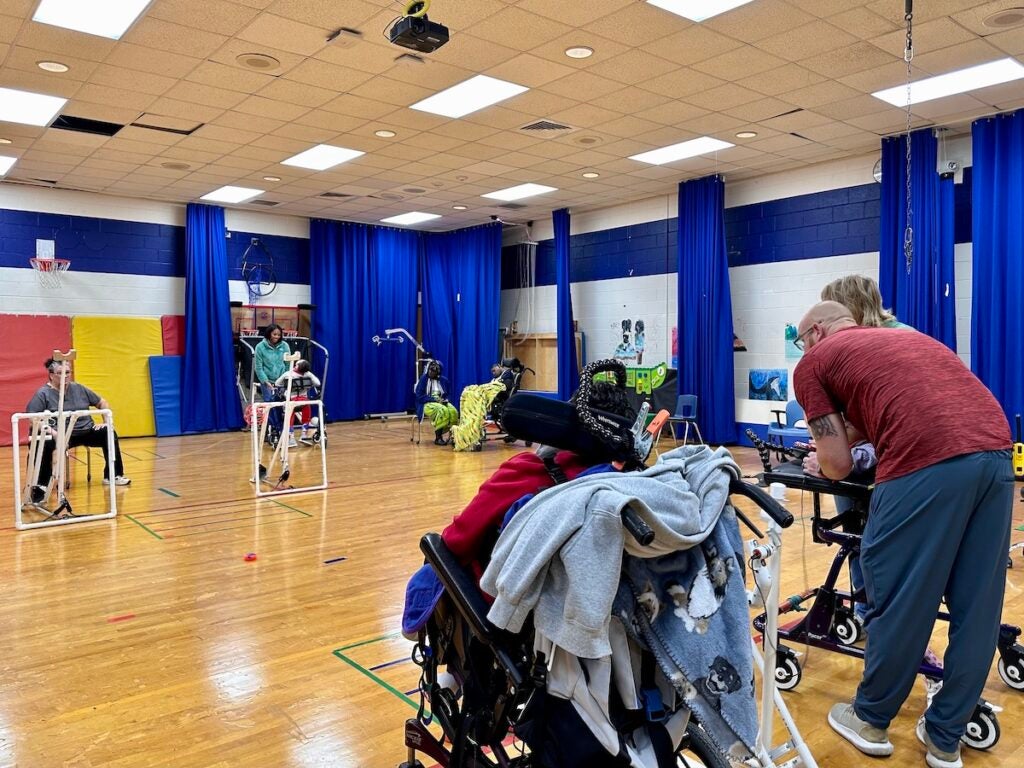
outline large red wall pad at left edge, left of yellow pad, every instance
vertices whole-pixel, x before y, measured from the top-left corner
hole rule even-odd
[[[54,349],[71,349],[71,317],[0,314],[0,445],[9,445],[11,414],[25,411],[46,383],[43,361]]]

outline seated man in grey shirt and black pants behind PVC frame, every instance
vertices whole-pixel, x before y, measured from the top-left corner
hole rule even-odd
[[[29,404],[26,406],[25,409],[27,413],[39,414],[43,411],[56,413],[57,408],[60,404],[61,371],[66,372],[63,396],[65,411],[85,411],[88,408],[105,410],[111,407],[106,400],[88,387],[72,381],[71,366],[67,362],[60,362],[54,360],[52,357],[48,357],[43,364],[43,367],[46,369],[46,373],[49,378],[47,382],[36,391],[36,393],[32,396],[32,399],[29,400]],[[51,423],[51,426],[55,426],[55,424]],[[44,498],[46,498],[46,486],[49,485],[50,478],[53,475],[53,451],[56,449],[56,439],[46,440],[43,444],[42,454],[39,459],[39,484],[33,485],[31,492],[33,504],[39,504]],[[75,428],[72,431],[71,438],[68,440],[67,447],[75,447],[76,445],[98,447],[103,452],[103,461],[106,463],[106,466],[103,469],[103,483],[109,484],[111,477],[111,457],[108,456],[106,451],[106,425],[96,424],[88,416],[80,416],[75,422]],[[121,461],[121,444],[118,440],[116,432],[114,434],[114,484],[131,484],[131,480],[125,477],[124,463]]]

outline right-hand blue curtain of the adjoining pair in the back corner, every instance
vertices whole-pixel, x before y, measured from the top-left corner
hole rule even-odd
[[[502,225],[423,237],[423,345],[444,365],[457,398],[487,381],[501,357]]]

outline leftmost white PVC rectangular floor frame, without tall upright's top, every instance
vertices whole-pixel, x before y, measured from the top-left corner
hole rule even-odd
[[[54,471],[52,473],[52,478],[55,478],[55,484],[51,479],[51,485],[56,488],[57,499],[62,500],[65,498],[65,478],[67,477],[67,463],[68,456],[67,452],[60,450],[61,445],[68,444],[68,438],[70,438],[71,433],[75,429],[75,422],[78,421],[81,416],[101,416],[103,417],[103,425],[106,427],[106,455],[111,457],[111,461],[108,462],[108,480],[110,481],[110,511],[103,512],[101,514],[94,515],[76,515],[74,517],[66,517],[60,520],[42,520],[40,522],[26,522],[22,517],[22,507],[23,507],[23,493],[29,490],[31,485],[36,484],[36,480],[39,478],[39,460],[42,457],[43,452],[43,441],[46,437],[43,434],[43,427],[49,422],[50,419],[57,420],[57,434],[55,439],[57,440],[57,445],[53,451],[54,457]],[[22,444],[20,444],[20,431],[19,423],[23,421],[32,422],[32,428],[29,433],[29,474],[27,479],[29,480],[25,486],[22,485]],[[54,413],[53,411],[43,411],[36,414],[13,414],[10,417],[10,427],[11,434],[13,436],[13,451],[11,451],[11,456],[14,463],[14,527],[18,530],[29,530],[32,528],[49,528],[54,525],[70,525],[76,522],[89,522],[91,520],[109,520],[112,517],[117,517],[118,514],[118,498],[117,498],[117,486],[114,483],[114,414],[111,413],[110,409],[103,409],[101,411],[85,409],[83,411],[65,411]]]

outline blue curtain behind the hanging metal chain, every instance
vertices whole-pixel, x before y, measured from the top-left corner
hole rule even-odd
[[[879,288],[896,318],[956,350],[952,178],[936,170],[932,129],[910,134],[913,256],[907,274],[906,135],[882,139],[882,232]]]

